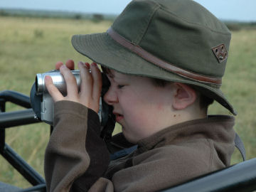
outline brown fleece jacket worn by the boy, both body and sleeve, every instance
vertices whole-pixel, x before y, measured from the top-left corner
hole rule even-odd
[[[229,166],[235,149],[234,118],[212,116],[163,129],[110,162],[95,112],[68,101],[56,102],[54,110],[48,191],[159,191]]]

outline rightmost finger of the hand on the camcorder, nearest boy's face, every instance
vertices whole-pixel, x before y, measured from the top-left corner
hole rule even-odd
[[[92,98],[99,102],[102,90],[102,75],[96,63],[92,63],[91,70],[93,78]]]

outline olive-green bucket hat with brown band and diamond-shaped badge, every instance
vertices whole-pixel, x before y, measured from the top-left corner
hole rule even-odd
[[[231,34],[191,0],[131,1],[105,33],[75,35],[75,50],[129,75],[183,82],[236,114],[220,90]]]

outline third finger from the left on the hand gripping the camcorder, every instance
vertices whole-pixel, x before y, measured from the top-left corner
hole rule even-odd
[[[81,86],[80,86],[80,97],[82,100],[89,101],[92,97],[92,75],[89,72],[89,63],[78,63],[78,68],[80,70]]]

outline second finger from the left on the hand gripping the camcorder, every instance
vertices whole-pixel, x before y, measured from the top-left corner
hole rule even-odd
[[[63,77],[65,79],[65,82],[67,85],[68,97],[71,100],[77,100],[78,99],[78,84],[75,80],[75,76],[71,73],[71,71],[65,65],[62,65],[60,67],[60,73],[63,74]]]

